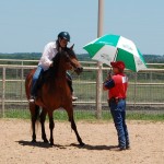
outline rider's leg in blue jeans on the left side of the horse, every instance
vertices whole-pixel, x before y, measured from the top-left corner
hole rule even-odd
[[[34,75],[33,75],[33,81],[32,81],[32,87],[31,87],[31,98],[30,102],[34,102],[35,96],[36,96],[36,82],[40,75],[40,73],[43,72],[43,68],[40,66],[37,67]]]

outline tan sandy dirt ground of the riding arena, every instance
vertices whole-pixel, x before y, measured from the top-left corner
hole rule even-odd
[[[164,122],[128,121],[131,150],[118,151],[112,121],[78,121],[85,147],[78,145],[69,122],[56,121],[55,147],[31,143],[31,122],[0,119],[0,164],[164,164]],[[48,121],[46,132],[49,138]]]

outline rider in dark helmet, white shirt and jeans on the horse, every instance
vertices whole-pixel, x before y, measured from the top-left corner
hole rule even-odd
[[[65,49],[68,45],[68,42],[70,42],[70,35],[68,32],[61,32],[58,34],[58,39],[56,42],[50,42],[45,46],[43,56],[39,60],[38,67],[34,73],[33,77],[33,82],[32,82],[32,89],[31,89],[31,98],[30,102],[34,102],[35,97],[36,97],[36,82],[39,78],[39,75],[49,69],[49,67],[52,66],[52,61],[51,59],[57,55],[57,52],[59,51],[59,48]],[[67,73],[67,78],[68,78],[68,84],[70,86],[71,92],[73,93],[72,90],[72,79],[70,77],[69,73]],[[72,95],[72,101],[77,101],[78,97]]]

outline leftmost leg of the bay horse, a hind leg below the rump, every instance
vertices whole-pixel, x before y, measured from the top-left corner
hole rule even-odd
[[[35,132],[35,122],[39,115],[39,106],[35,104],[30,104],[30,110],[31,110],[31,120],[32,120],[32,142],[36,142],[36,132]]]

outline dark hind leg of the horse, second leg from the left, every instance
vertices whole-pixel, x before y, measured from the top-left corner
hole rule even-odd
[[[40,125],[42,125],[42,138],[44,140],[45,143],[48,143],[47,137],[46,137],[46,132],[45,132],[45,120],[46,120],[46,110],[43,108],[40,116],[39,116],[39,120],[40,120]]]

